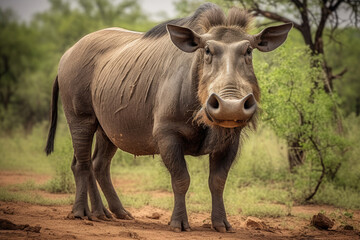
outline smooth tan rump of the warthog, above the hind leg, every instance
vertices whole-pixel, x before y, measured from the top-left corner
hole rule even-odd
[[[118,30],[100,30],[86,35],[71,47],[59,64],[59,88],[65,113],[93,113],[90,85],[100,60],[115,49],[139,38],[140,34],[124,34]]]

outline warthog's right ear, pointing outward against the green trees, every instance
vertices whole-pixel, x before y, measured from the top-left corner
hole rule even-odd
[[[292,23],[280,26],[268,27],[254,35],[253,47],[262,52],[269,52],[285,42],[287,35],[292,28]]]

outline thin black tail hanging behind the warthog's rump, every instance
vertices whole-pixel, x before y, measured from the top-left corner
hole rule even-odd
[[[56,76],[53,85],[53,92],[52,92],[51,115],[50,115],[51,125],[50,125],[48,140],[45,148],[46,155],[49,155],[54,151],[54,139],[56,132],[56,124],[57,124],[58,97],[59,97],[59,84],[58,84],[58,76]]]

